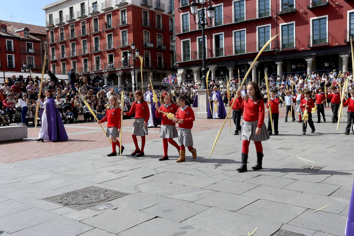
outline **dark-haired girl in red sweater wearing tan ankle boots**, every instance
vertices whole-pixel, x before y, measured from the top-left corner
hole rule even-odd
[[[193,159],[197,157],[197,150],[193,148],[193,137],[191,129],[195,120],[194,111],[190,107],[190,103],[183,96],[177,98],[179,108],[177,110],[175,120],[178,125],[178,142],[181,150],[179,151],[179,159],[176,162],[185,161],[185,146],[192,153]]]

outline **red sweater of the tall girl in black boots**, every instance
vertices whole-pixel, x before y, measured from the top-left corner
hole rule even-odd
[[[258,120],[258,128],[261,128],[264,122],[264,101],[261,99],[256,104],[251,100],[251,98],[247,98],[247,100],[243,100],[241,97],[238,99],[242,100],[242,107],[245,108],[244,111],[244,121],[251,122]]]

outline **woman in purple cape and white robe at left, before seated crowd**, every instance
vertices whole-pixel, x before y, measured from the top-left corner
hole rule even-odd
[[[47,89],[44,95],[46,98],[43,102],[40,98],[38,99],[41,107],[41,130],[39,131],[39,139],[36,139],[36,141],[50,140],[57,142],[68,140],[59,109],[55,106],[53,93]]]

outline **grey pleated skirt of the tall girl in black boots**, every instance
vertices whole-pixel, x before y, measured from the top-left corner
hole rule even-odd
[[[259,142],[259,141],[265,141],[270,139],[267,126],[265,126],[264,122],[261,127],[261,134],[255,135],[257,125],[258,125],[258,120],[251,121],[251,122],[243,121],[241,126],[240,140],[252,140],[253,142]]]

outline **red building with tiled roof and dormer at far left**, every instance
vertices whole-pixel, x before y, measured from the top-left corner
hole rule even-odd
[[[0,71],[21,72],[23,62],[40,73],[47,41],[46,28],[0,20]]]

